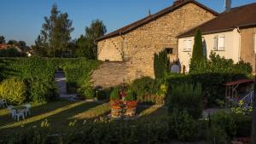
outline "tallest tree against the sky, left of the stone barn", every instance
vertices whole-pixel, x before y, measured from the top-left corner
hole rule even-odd
[[[61,14],[57,5],[53,4],[49,18],[44,17],[44,21],[41,37],[44,38],[48,55],[62,57],[67,52],[70,33],[74,30],[72,20],[68,19],[67,13]]]

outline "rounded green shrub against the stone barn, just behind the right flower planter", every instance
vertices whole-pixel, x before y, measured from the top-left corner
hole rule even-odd
[[[137,95],[139,102],[154,102],[157,86],[153,78],[144,77],[133,81],[131,89]]]

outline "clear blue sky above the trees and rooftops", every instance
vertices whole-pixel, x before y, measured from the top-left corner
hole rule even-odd
[[[197,0],[207,7],[222,12],[224,0]],[[256,0],[233,0],[232,7],[255,3]],[[23,40],[28,45],[38,36],[44,16],[49,16],[53,3],[61,12],[67,12],[73,20],[73,38],[84,34],[84,27],[91,20],[103,20],[111,32],[172,5],[173,0],[1,0],[0,35],[9,39]]]

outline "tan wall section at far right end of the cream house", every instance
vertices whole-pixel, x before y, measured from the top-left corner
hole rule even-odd
[[[251,63],[255,74],[254,32],[256,27],[241,29],[241,60]]]

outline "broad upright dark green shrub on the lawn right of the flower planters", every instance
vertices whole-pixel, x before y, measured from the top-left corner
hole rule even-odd
[[[200,118],[201,106],[201,84],[174,84],[170,89],[168,98],[169,112],[174,109],[186,110],[193,118]]]

